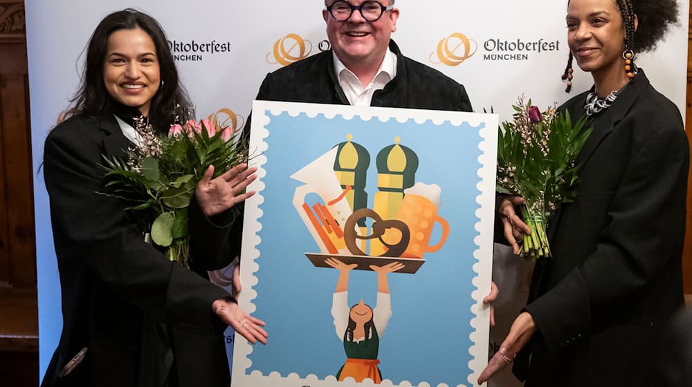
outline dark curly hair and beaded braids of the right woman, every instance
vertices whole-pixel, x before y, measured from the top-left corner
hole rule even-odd
[[[668,33],[673,24],[677,23],[679,5],[677,0],[612,0],[625,23],[625,48],[632,54],[646,53],[655,50],[657,44]],[[570,0],[567,0],[567,4]],[[639,20],[635,31],[635,18]],[[570,52],[567,59],[567,67],[562,79],[567,80],[567,93],[572,91],[572,61],[574,56]],[[635,67],[636,68],[636,67]]]

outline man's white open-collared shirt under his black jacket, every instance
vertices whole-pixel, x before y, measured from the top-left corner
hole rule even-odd
[[[348,101],[354,106],[370,106],[372,94],[376,90],[381,90],[385,85],[397,76],[397,55],[392,53],[392,50],[387,48],[385,58],[380,64],[372,82],[363,88],[358,77],[346,68],[343,63],[336,57],[334,51],[331,52],[334,57],[334,73],[339,79],[339,84],[343,88]]]

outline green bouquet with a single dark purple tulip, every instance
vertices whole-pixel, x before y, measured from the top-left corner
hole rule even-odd
[[[503,122],[498,135],[496,189],[525,200],[521,213],[531,235],[524,236],[520,256],[547,257],[547,225],[561,203],[576,197],[576,157],[592,129],[585,129],[585,119],[572,124],[567,111],[551,107],[541,113],[523,97],[513,108],[513,120]]]

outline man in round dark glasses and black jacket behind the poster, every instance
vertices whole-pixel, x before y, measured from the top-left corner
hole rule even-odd
[[[322,17],[331,50],[268,73],[257,100],[471,111],[464,86],[403,56],[390,39],[394,0],[327,0]]]

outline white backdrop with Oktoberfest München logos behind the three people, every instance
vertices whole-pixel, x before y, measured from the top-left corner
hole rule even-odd
[[[266,73],[293,58],[313,55],[325,48],[322,0],[136,3],[138,9],[152,15],[166,30],[199,117],[223,109],[222,117],[235,118],[237,125],[242,126]],[[538,106],[559,104],[570,97],[559,78],[568,53],[566,3],[399,0],[401,17],[393,38],[404,55],[464,84],[475,111],[492,107],[500,114],[500,120],[507,120],[511,104],[522,93]],[[637,64],[646,68],[654,86],[684,113],[689,0],[679,3],[680,25],[654,53],[639,57]],[[98,21],[109,12],[133,6],[123,0],[84,4],[78,0],[26,0],[33,165],[37,176],[34,189],[41,375],[62,327],[48,197],[38,171],[43,144],[78,86],[83,50]],[[194,44],[218,44],[217,50],[226,51],[201,52],[194,50]],[[278,56],[274,54],[275,46]],[[538,47],[540,52],[535,50]],[[591,86],[588,74],[575,68],[574,75],[572,95]],[[491,352],[493,345],[502,341],[525,301],[529,270],[530,265],[498,248],[493,276],[500,283],[501,295],[497,303],[498,327],[491,333]],[[228,280],[224,272],[212,277],[221,282]],[[515,383],[510,375],[502,375],[494,384]]]

